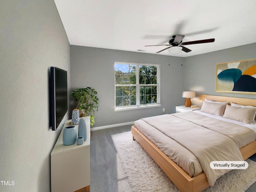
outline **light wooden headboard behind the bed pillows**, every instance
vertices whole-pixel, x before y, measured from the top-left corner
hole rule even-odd
[[[237,98],[237,97],[223,97],[216,95],[200,95],[199,100],[204,101],[204,99],[209,99],[213,101],[227,102],[230,105],[230,102],[240,104],[240,105],[251,105],[256,106],[256,99],[247,99],[247,98]]]

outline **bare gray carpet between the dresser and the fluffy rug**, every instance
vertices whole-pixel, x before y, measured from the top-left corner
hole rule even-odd
[[[91,132],[90,192],[118,192],[116,149],[111,135],[130,131],[131,126]]]

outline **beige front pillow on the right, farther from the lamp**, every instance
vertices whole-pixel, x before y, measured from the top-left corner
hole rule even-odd
[[[252,124],[256,108],[236,107],[227,105],[223,118],[228,118],[243,122],[246,124]]]

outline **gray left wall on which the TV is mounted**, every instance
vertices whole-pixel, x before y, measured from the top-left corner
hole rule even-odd
[[[49,192],[61,128],[49,130],[48,70],[67,70],[70,90],[70,44],[54,0],[1,1],[0,18],[0,180],[15,184],[0,191]]]

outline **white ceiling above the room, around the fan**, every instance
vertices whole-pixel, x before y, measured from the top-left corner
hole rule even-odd
[[[155,54],[175,34],[192,56],[256,42],[256,0],[54,0],[71,45]]]

